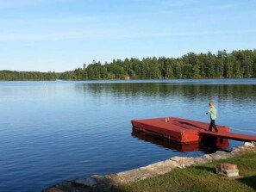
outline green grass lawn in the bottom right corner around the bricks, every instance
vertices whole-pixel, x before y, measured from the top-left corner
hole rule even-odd
[[[215,174],[215,166],[219,163],[237,164],[240,178],[230,179]],[[228,158],[209,164],[201,164],[129,183],[122,187],[112,187],[108,192],[239,192],[256,191],[256,153],[248,153],[239,158]]]

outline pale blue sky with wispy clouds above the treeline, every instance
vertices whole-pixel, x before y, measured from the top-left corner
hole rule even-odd
[[[0,0],[0,70],[256,48],[255,0]]]

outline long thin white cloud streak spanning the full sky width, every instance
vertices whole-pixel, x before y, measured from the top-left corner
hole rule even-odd
[[[204,35],[229,35],[229,34],[256,34],[256,30],[230,30],[230,31],[191,31],[170,33],[145,33],[143,31],[88,31],[88,32],[56,32],[41,34],[0,34],[0,41],[36,41],[36,40],[93,40],[93,39],[135,39],[135,38],[172,38]]]

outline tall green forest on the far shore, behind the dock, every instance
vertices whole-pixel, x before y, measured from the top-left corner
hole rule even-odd
[[[256,77],[256,50],[232,53],[188,53],[181,58],[114,59],[102,65],[93,61],[74,71],[63,72],[63,80],[159,79],[159,78]]]

